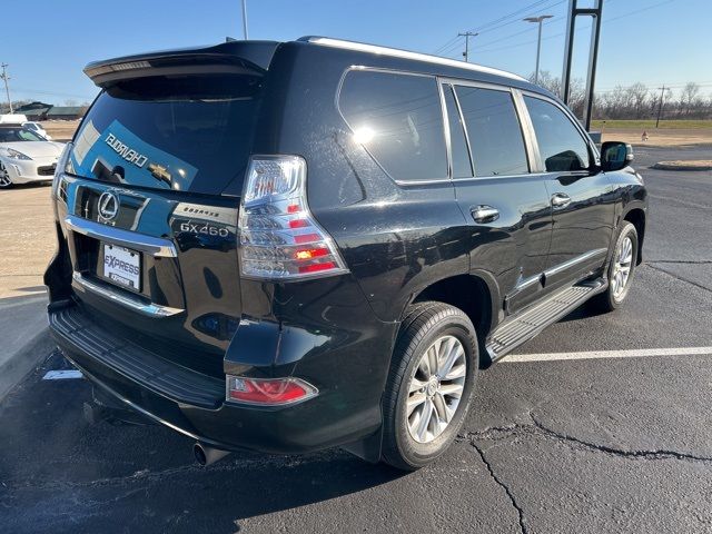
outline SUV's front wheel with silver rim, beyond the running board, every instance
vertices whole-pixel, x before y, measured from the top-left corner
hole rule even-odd
[[[592,299],[595,307],[601,312],[612,312],[623,304],[631,289],[636,263],[637,230],[631,222],[624,222],[609,265],[609,288]]]

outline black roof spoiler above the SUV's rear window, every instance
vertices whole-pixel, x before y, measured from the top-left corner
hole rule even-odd
[[[235,73],[261,77],[278,46],[276,41],[228,41],[214,47],[125,56],[91,62],[85,67],[85,73],[105,89],[121,80],[149,76]]]

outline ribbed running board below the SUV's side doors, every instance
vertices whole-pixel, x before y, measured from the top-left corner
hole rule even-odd
[[[604,278],[576,284],[555,293],[522,315],[507,320],[494,330],[487,340],[486,348],[490,358],[492,362],[502,358],[607,287],[609,283]]]

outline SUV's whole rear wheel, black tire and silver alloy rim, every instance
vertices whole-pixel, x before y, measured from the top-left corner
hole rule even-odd
[[[414,471],[441,456],[457,435],[478,367],[469,318],[443,303],[407,314],[384,395],[382,459]]]

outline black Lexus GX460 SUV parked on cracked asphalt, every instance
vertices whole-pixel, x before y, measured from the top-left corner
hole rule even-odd
[[[228,451],[414,469],[479,367],[641,261],[630,146],[507,72],[309,37],[90,63],[51,330],[102,409]]]

